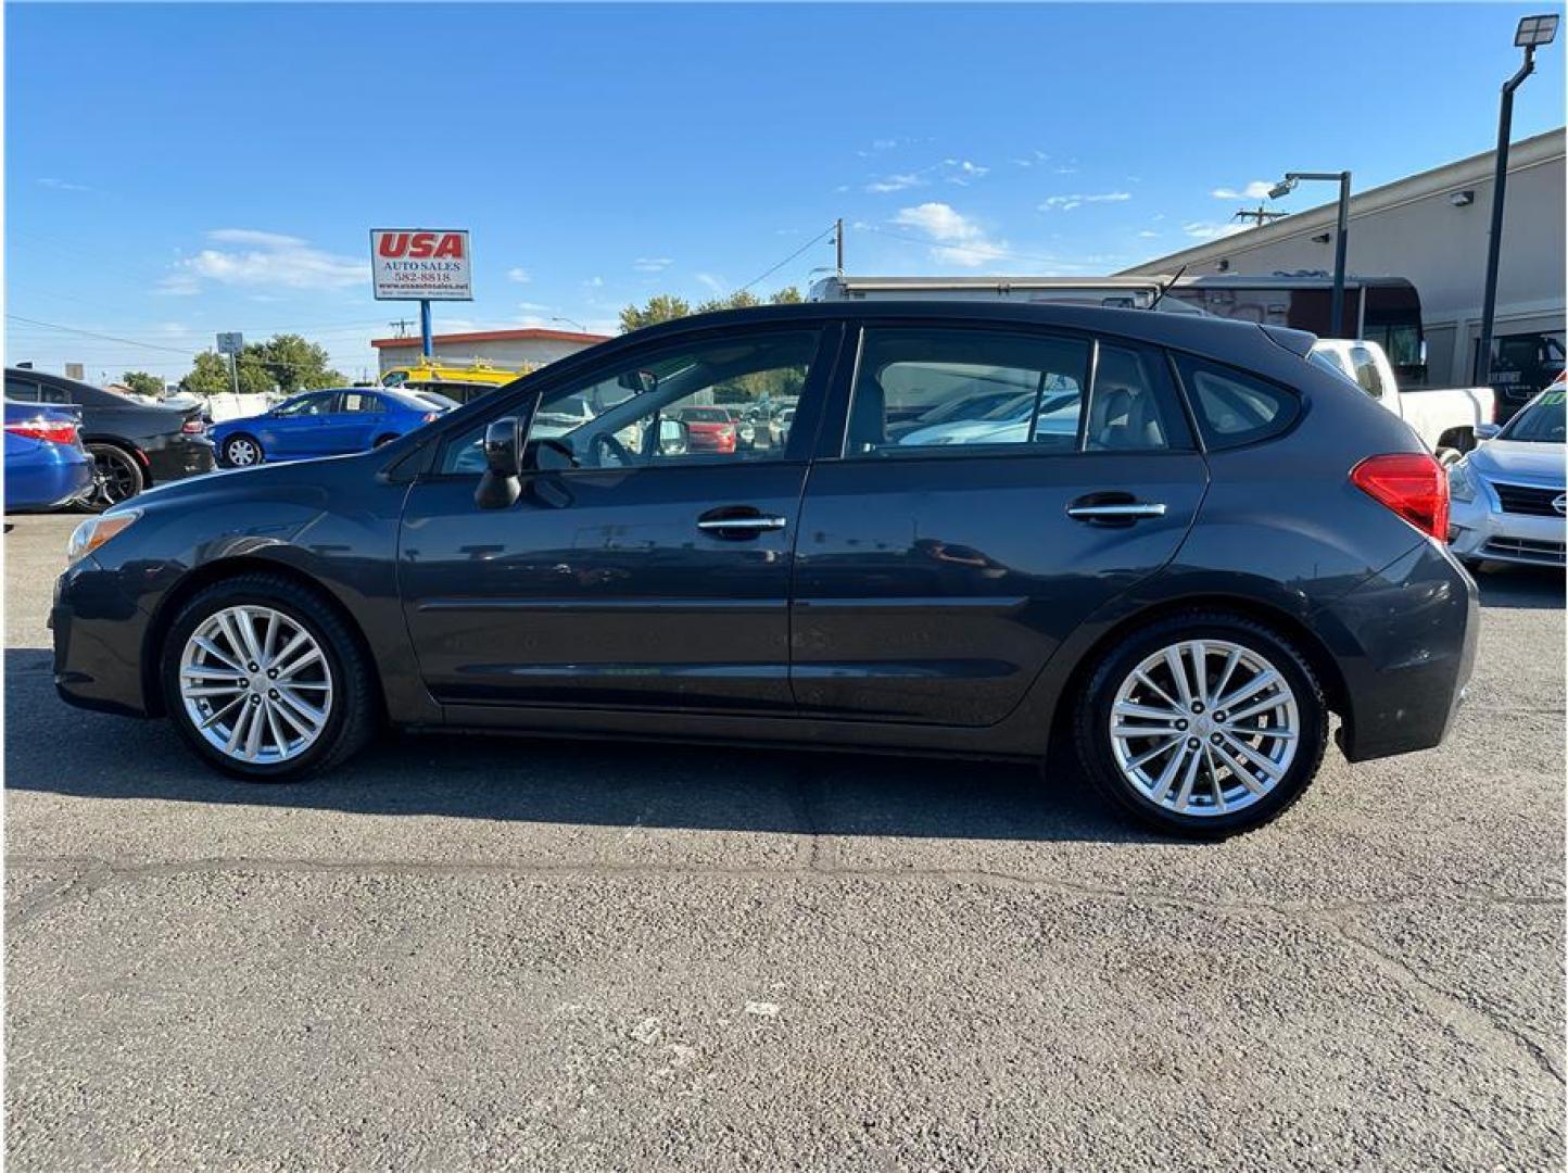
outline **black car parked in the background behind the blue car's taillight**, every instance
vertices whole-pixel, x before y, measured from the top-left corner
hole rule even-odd
[[[210,472],[212,444],[201,408],[169,408],[30,367],[5,369],[5,397],[82,408],[82,442],[97,478],[82,505],[103,510],[154,485]]]

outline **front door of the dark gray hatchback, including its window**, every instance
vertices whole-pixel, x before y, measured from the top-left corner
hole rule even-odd
[[[789,583],[812,438],[698,450],[677,420],[764,394],[818,401],[818,350],[837,328],[693,337],[549,387],[530,450],[550,470],[527,474],[513,507],[474,494],[485,422],[514,394],[411,488],[403,604],[439,701],[792,710]]]

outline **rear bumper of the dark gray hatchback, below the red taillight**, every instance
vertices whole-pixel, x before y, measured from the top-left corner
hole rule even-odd
[[[1475,583],[1443,547],[1421,543],[1316,618],[1339,651],[1345,757],[1443,742],[1465,699],[1480,629]]]

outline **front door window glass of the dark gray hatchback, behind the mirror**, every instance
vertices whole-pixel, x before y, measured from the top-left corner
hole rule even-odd
[[[691,343],[544,397],[528,441],[547,441],[572,467],[779,459],[817,353],[817,331],[767,331]],[[453,438],[441,470],[485,470],[485,423]]]

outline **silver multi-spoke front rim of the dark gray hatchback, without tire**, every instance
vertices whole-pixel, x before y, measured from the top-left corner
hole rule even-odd
[[[321,645],[271,607],[224,607],[180,652],[180,699],[191,726],[237,762],[287,762],[321,735],[332,671]]]

